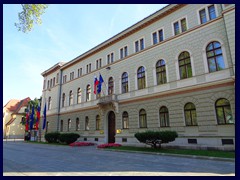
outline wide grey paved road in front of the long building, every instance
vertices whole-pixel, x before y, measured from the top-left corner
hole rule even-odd
[[[226,176],[235,162],[3,142],[4,176]]]

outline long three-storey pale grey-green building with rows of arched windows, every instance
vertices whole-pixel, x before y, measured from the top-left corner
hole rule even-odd
[[[142,146],[136,132],[175,130],[169,146],[235,150],[234,4],[170,4],[41,75],[42,137]]]

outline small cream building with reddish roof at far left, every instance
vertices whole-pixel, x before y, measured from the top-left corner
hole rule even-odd
[[[30,100],[29,97],[22,100],[11,99],[3,107],[3,138],[24,138],[25,127],[21,121]]]

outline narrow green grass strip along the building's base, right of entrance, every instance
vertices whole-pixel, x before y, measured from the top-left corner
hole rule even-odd
[[[196,155],[196,156],[208,156],[208,157],[220,157],[220,158],[235,158],[235,152],[217,151],[217,150],[152,149],[152,148],[132,147],[132,146],[111,147],[109,149],[139,151],[139,152],[155,152],[155,153],[166,153],[166,154]]]

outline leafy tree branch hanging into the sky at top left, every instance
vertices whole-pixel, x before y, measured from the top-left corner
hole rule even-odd
[[[41,24],[41,15],[48,7],[47,4],[21,4],[23,11],[18,13],[19,23],[15,23],[18,31],[24,33],[32,30],[34,23]]]

